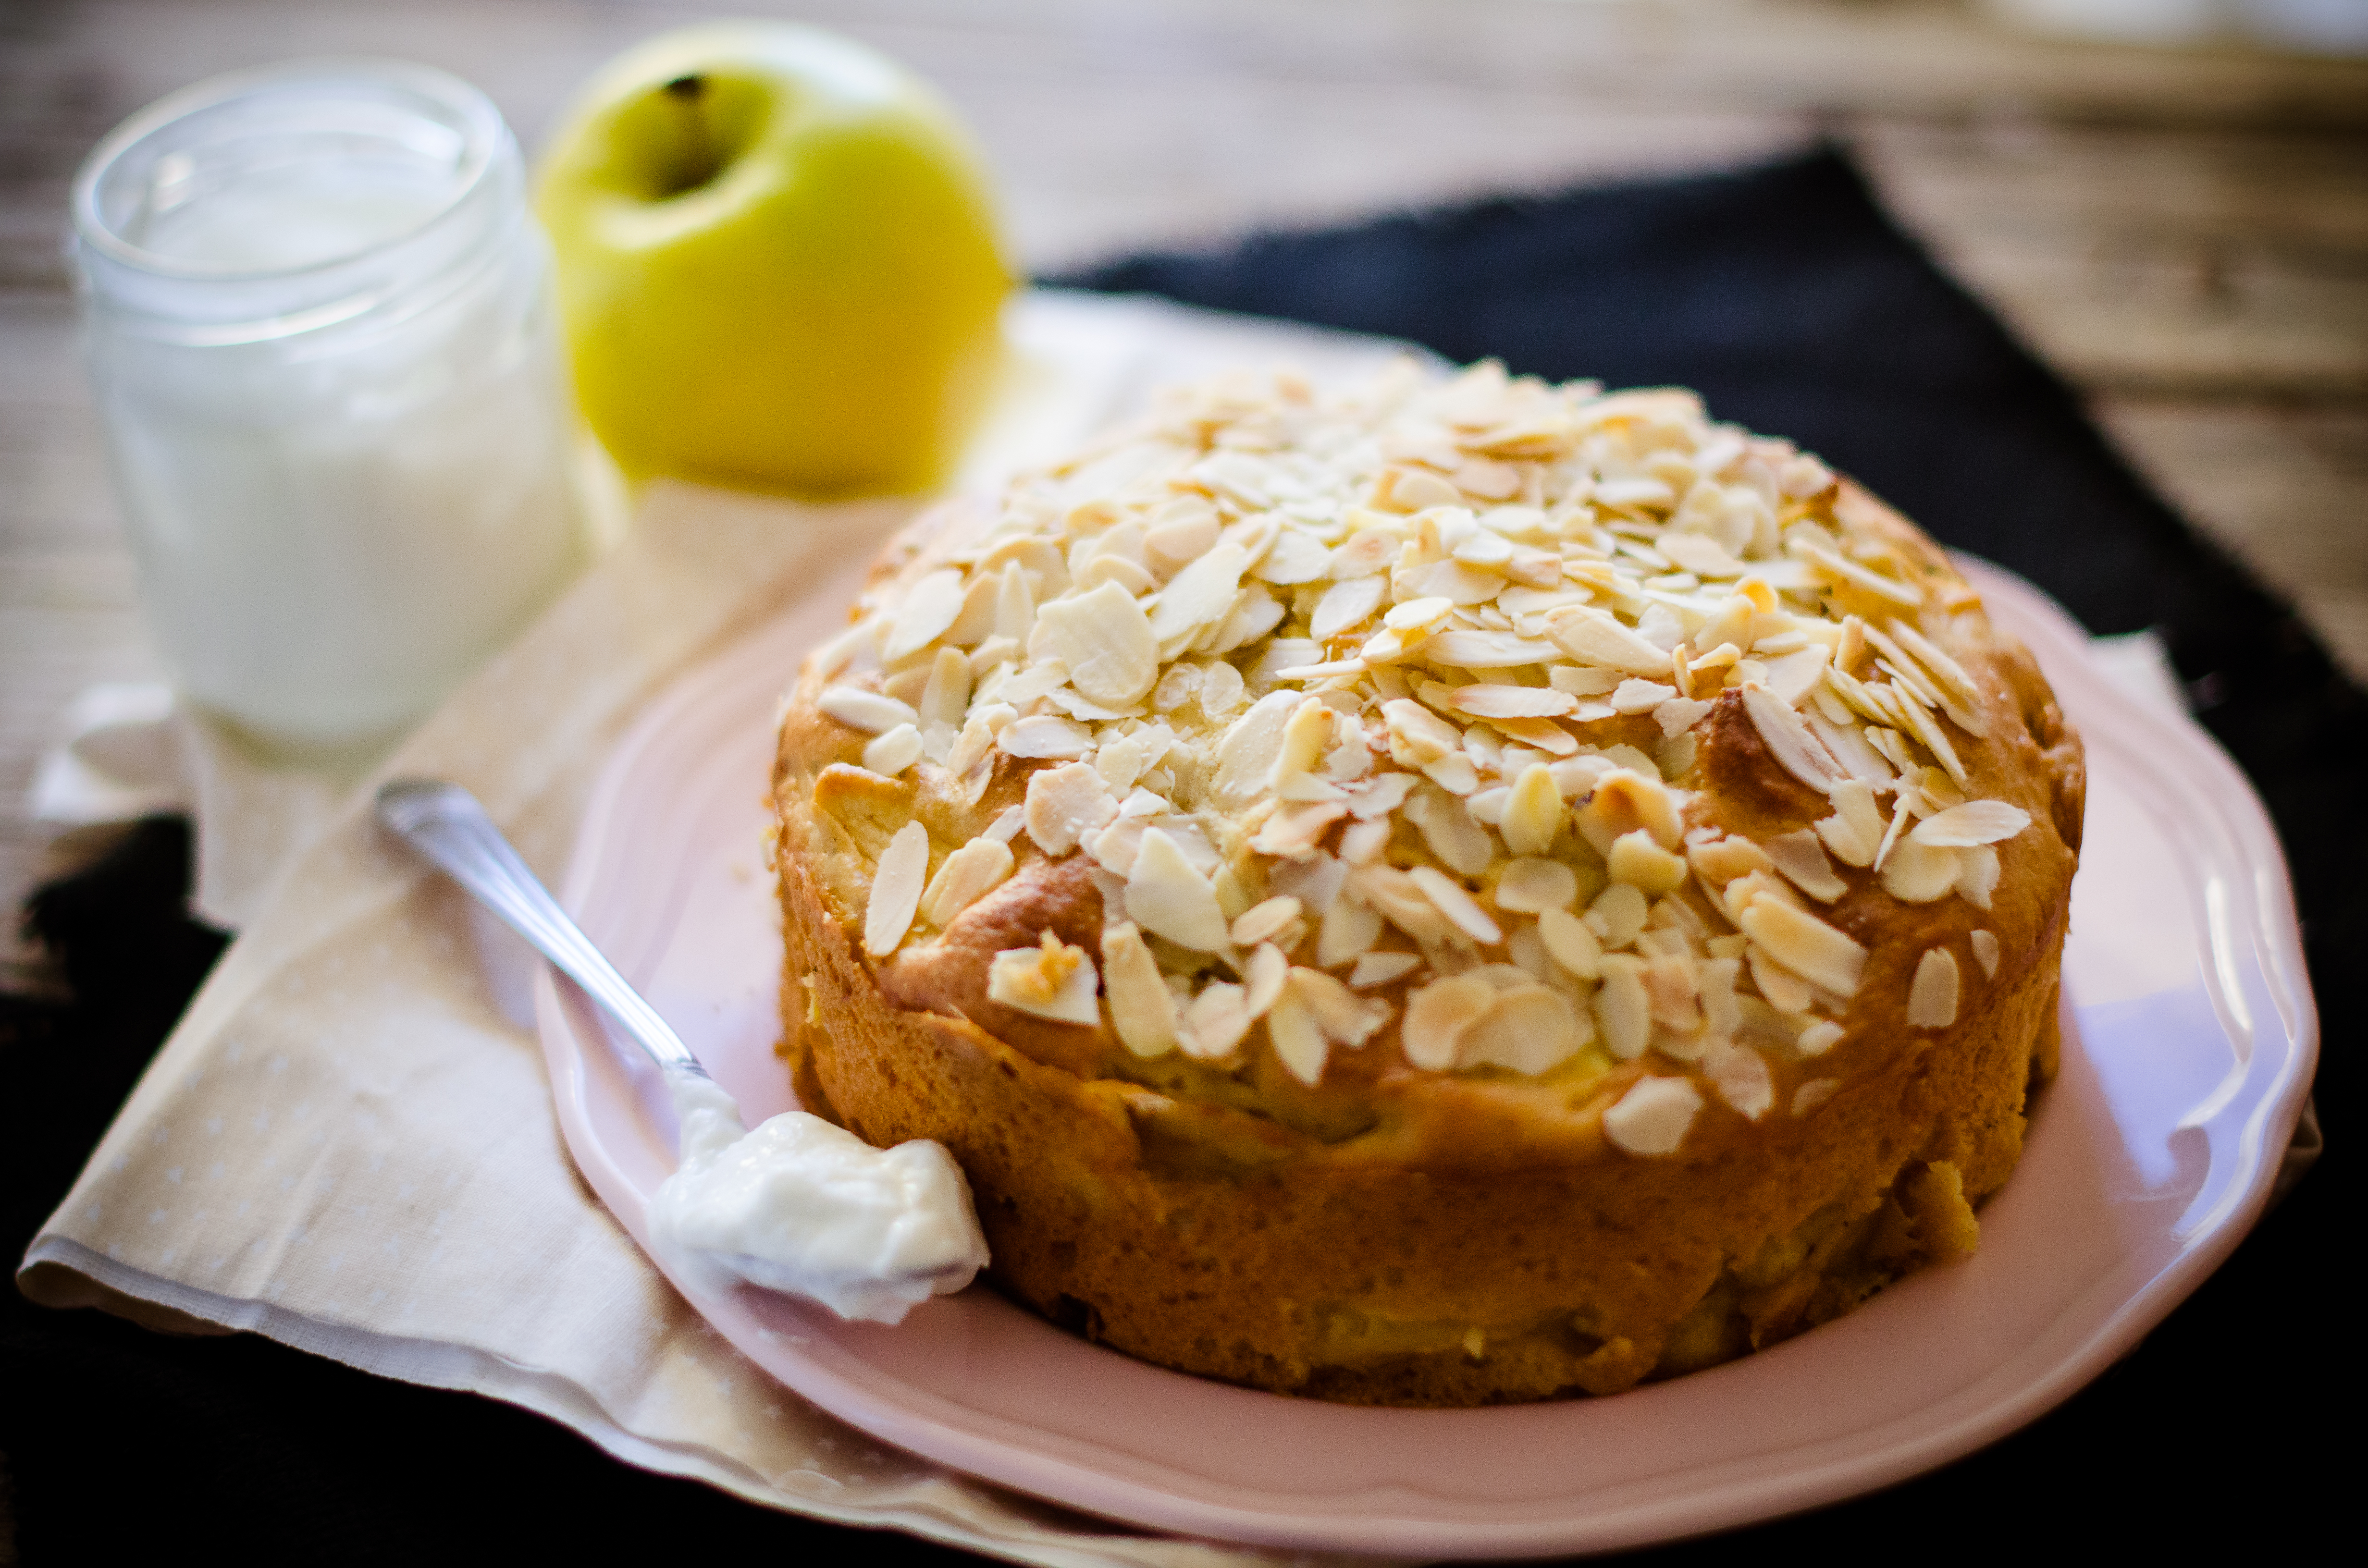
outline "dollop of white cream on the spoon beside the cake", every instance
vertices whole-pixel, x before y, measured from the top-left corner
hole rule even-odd
[[[805,1111],[744,1132],[739,1104],[710,1078],[665,1078],[682,1161],[651,1196],[649,1229],[677,1267],[876,1324],[902,1322],[985,1267],[971,1184],[945,1144],[874,1149]]]

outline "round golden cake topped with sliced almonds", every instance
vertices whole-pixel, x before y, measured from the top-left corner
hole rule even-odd
[[[786,1052],[1094,1341],[1615,1393],[1975,1246],[2081,793],[1946,557],[1693,393],[1231,377],[938,507],[805,661]]]

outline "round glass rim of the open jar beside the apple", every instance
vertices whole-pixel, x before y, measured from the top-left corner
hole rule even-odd
[[[126,239],[116,225],[107,220],[99,208],[102,185],[107,175],[130,156],[142,142],[156,137],[161,130],[206,114],[208,109],[220,109],[242,97],[258,97],[275,88],[301,88],[305,83],[332,83],[332,81],[365,81],[379,88],[395,88],[417,95],[419,99],[445,109],[462,135],[462,152],[455,166],[452,189],[436,211],[426,213],[412,227],[374,239],[358,249],[336,251],[332,256],[317,256],[296,265],[284,268],[256,268],[246,263],[206,263],[170,256],[163,251],[152,251],[142,244]],[[424,234],[452,220],[455,213],[471,204],[471,197],[485,185],[488,175],[500,163],[504,142],[509,140],[509,126],[502,121],[500,109],[478,88],[452,76],[450,71],[438,71],[436,66],[414,64],[407,59],[388,59],[377,54],[324,54],[308,59],[287,59],[268,66],[253,66],[244,71],[225,71],[220,76],[208,76],[178,92],[168,92],[147,109],[140,109],[121,126],[109,130],[83,166],[73,175],[73,234],[76,242],[90,246],[109,263],[144,272],[159,279],[173,282],[272,282],[272,279],[301,279],[322,272],[334,272],[339,268],[350,268],[365,256],[379,256],[407,244],[419,242]]]

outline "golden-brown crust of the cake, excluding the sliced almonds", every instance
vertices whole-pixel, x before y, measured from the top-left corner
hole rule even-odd
[[[1534,950],[1516,952],[1516,964],[1527,957],[1544,976],[1537,985],[1558,985],[1556,995],[1591,1018],[1594,1042],[1539,1071],[1471,1059],[1468,1047],[1444,1068],[1416,1066],[1416,1056],[1437,1061],[1437,1045],[1428,1033],[1409,1037],[1409,1004],[1452,978],[1447,969],[1494,962],[1504,995],[1527,992],[1532,981],[1501,947],[1454,933],[1428,945],[1399,940],[1385,926],[1385,945],[1418,950],[1423,962],[1357,992],[1376,1014],[1388,1007],[1388,1018],[1362,1045],[1333,1037],[1312,1080],[1283,1056],[1267,1021],[1231,1049],[1205,1049],[1205,1033],[1203,1049],[1189,1049],[1196,1014],[1182,1007],[1186,985],[1205,992],[1231,973],[1224,966],[1170,981],[1186,1049],[1144,1054],[1120,1037],[1108,1000],[1092,1023],[1047,1016],[1035,1002],[1014,1007],[1009,990],[997,1000],[997,962],[1018,962],[1030,947],[1087,962],[1101,952],[1108,988],[1118,952],[1108,933],[1125,914],[1115,902],[1146,905],[1087,846],[1047,853],[1032,829],[1011,834],[1009,869],[992,886],[959,907],[931,905],[947,857],[1009,824],[1006,812],[1028,812],[1030,779],[1066,760],[990,751],[964,772],[926,760],[897,772],[867,767],[867,756],[883,760],[881,720],[843,694],[897,689],[895,658],[850,677],[822,656],[786,706],[774,770],[784,1023],[800,1099],[874,1144],[947,1144],[978,1199],[992,1277],[1054,1322],[1158,1364],[1333,1400],[1480,1405],[1615,1393],[1781,1341],[1920,1262],[1970,1251],[1973,1206],[2013,1170],[2027,1087],[2053,1063],[2081,822],[2079,741],[2032,658],[1989,628],[1973,590],[1918,531],[1847,481],[1819,497],[1814,516],[1878,561],[1892,585],[1885,602],[1833,568],[1816,590],[1826,609],[1842,611],[1838,623],[1887,611],[1897,628],[1906,585],[1920,602],[1911,618],[1932,649],[1916,656],[1916,673],[1930,685],[1949,661],[1970,687],[1956,694],[1956,720],[1982,730],[1944,734],[1961,777],[1944,779],[1937,765],[1902,775],[1911,782],[1894,786],[1894,805],[1925,789],[1909,801],[1925,810],[1899,805],[1892,836],[1949,810],[1954,796],[2015,808],[2027,824],[1963,850],[1890,846],[1866,867],[1819,857],[1842,883],[1823,900],[1767,872],[1759,876],[1774,893],[1750,893],[1738,881],[1743,860],[1722,862],[1719,846],[1750,860],[1750,846],[1800,836],[1840,812],[1797,758],[1788,767],[1788,732],[1767,718],[1764,701],[1755,718],[1752,692],[1764,699],[1757,682],[1700,687],[1698,718],[1695,708],[1677,713],[1691,718],[1681,732],[1691,744],[1662,748],[1662,782],[1686,831],[1674,853],[1691,860],[1691,876],[1662,888],[1653,907],[1660,931],[1684,924],[1684,910],[1662,912],[1677,900],[1691,900],[1703,931],[1724,928],[1731,902],[1745,924],[1755,910],[1771,912],[1757,898],[1802,910],[1864,952],[1852,995],[1828,990],[1778,1016],[1776,1002],[1797,981],[1781,966],[1752,969],[1767,959],[1752,945],[1717,983],[1752,1000],[1745,1026],[1759,1035],[1736,1035],[1743,1045],[1717,1037],[1700,1023],[1710,1004],[1698,1002],[1684,1014],[1695,1018],[1691,1035],[1669,1026],[1679,1014],[1655,1014],[1650,1049],[1608,1054],[1620,1028],[1603,997],[1617,983],[1613,966],[1589,988],[1575,971],[1539,966]],[[945,538],[966,521],[940,516],[900,540],[869,613],[912,602],[928,571],[945,571]],[[1767,576],[1778,578],[1778,568]],[[912,694],[914,682],[902,689]],[[1937,706],[1944,715],[1946,696]],[[1658,734],[1653,725],[1646,713],[1622,713],[1572,727],[1591,748],[1641,751]],[[1101,734],[1115,732],[1113,722]],[[1184,744],[1212,753],[1208,739]],[[1184,801],[1191,791],[1177,784],[1172,793]],[[1570,822],[1551,850],[1582,872],[1608,865],[1575,841],[1591,801],[1563,808]],[[1286,808],[1260,803],[1253,815],[1260,810],[1272,820]],[[1435,838],[1383,820],[1392,822],[1388,850],[1366,865],[1437,869]],[[909,931],[881,943],[867,928],[874,891],[886,879],[883,857],[914,822],[926,834],[924,881],[933,883],[921,902],[942,921],[907,914]],[[1321,843],[1340,843],[1345,827],[1328,824],[1336,836]],[[1828,831],[1828,843],[1849,848],[1847,831]],[[1982,848],[1996,855],[1991,886],[1980,888],[1980,874],[1956,886],[1984,893],[1987,907],[1911,886],[1916,853],[1977,862]],[[1248,872],[1312,865],[1243,843],[1217,850],[1227,867],[1238,860]],[[1518,907],[1497,902],[1520,902],[1494,881],[1501,862],[1499,848],[1487,874],[1468,881],[1487,917],[1527,931]],[[1816,886],[1814,869],[1807,881]],[[1745,893],[1736,898],[1736,888]],[[1373,898],[1388,902],[1383,893]],[[1776,940],[1774,928],[1750,928]],[[1977,931],[1987,933],[1980,945]],[[1321,969],[1321,921],[1281,938],[1291,940],[1281,957],[1293,976]],[[1724,940],[1745,947],[1740,931]],[[1691,957],[1679,969],[1693,964],[1700,976],[1714,962],[1703,957],[1710,936],[1669,936],[1660,947],[1686,943]],[[1186,962],[1172,943],[1158,952],[1170,971]],[[1937,964],[1928,955],[1942,955],[1951,976],[1944,1023],[1939,983],[1920,981]],[[1665,962],[1655,983],[1667,971]],[[1317,981],[1291,985],[1307,985],[1310,997],[1321,990]],[[1833,1040],[1807,1049],[1816,1035],[1804,1030]],[[1636,1144],[1650,1139],[1634,1130],[1624,1142],[1608,1135],[1606,1113],[1643,1080],[1684,1082],[1698,1099],[1672,1149],[1643,1151]]]

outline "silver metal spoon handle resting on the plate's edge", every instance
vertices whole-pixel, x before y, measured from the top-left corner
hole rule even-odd
[[[583,985],[585,995],[609,1009],[609,1016],[632,1035],[635,1045],[649,1052],[651,1061],[668,1073],[708,1075],[691,1056],[691,1047],[682,1045],[682,1037],[665,1026],[658,1009],[625,983],[625,976],[601,957],[592,938],[526,869],[519,850],[509,848],[509,838],[476,803],[476,796],[459,784],[438,779],[393,779],[379,786],[379,822],[443,867],[452,881],[469,888],[511,931],[533,943],[535,952]]]

